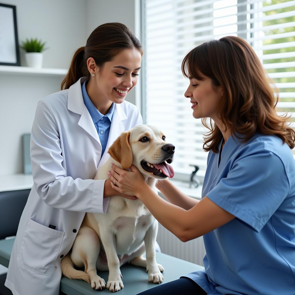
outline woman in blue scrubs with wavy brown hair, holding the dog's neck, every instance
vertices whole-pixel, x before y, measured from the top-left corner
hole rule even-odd
[[[191,50],[182,71],[193,117],[210,130],[201,201],[168,180],[157,184],[165,201],[134,166],[110,175],[181,241],[203,235],[205,269],[140,294],[295,294],[295,132],[276,113],[260,60],[228,36]]]

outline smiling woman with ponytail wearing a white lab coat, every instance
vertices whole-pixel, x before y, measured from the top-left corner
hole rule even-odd
[[[101,25],[74,54],[64,90],[38,103],[31,132],[34,186],[5,282],[14,295],[58,295],[60,261],[71,249],[85,212],[105,213],[109,197],[118,195],[110,179],[93,178],[121,132],[142,124],[137,107],[124,101],[137,83],[141,56],[141,44],[127,27]],[[105,129],[91,117],[83,87],[92,111],[96,108],[101,122],[107,122]]]

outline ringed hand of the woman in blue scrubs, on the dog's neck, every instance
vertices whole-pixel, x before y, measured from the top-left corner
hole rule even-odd
[[[131,171],[123,170],[112,163],[111,171],[109,171],[108,174],[112,181],[112,189],[121,194],[136,196],[147,184],[140,171],[134,165],[130,166],[130,170]],[[116,185],[114,184],[114,181]]]

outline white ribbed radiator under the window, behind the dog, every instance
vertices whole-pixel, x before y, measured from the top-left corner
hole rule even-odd
[[[205,255],[203,237],[181,242],[159,223],[157,242],[161,252],[203,266]]]

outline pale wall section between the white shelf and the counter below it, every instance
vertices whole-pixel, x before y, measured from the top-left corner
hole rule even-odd
[[[0,175],[22,173],[22,134],[30,133],[37,102],[60,88],[60,78],[0,73]]]

